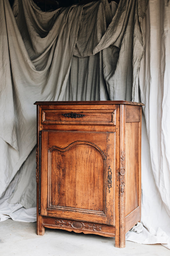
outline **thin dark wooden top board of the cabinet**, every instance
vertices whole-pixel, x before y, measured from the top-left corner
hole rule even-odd
[[[101,100],[101,101],[36,101],[34,105],[103,105],[103,104],[126,104],[144,106],[143,103],[126,101],[126,100]]]

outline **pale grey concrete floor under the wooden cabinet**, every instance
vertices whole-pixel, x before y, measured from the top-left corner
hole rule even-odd
[[[44,236],[36,235],[36,223],[8,219],[0,222],[1,256],[170,256],[160,244],[137,244],[126,241],[126,248],[115,248],[115,239],[97,235],[77,234],[45,228]]]

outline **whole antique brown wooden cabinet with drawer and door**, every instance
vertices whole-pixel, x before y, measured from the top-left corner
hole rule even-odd
[[[45,228],[115,237],[141,218],[142,103],[37,105],[37,234]]]

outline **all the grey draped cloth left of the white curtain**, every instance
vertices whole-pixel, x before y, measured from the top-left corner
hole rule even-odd
[[[131,46],[134,28],[143,51],[140,23],[134,16],[141,16],[137,2],[121,1],[113,18],[107,0],[53,12],[41,12],[32,0],[15,0],[13,13],[8,1],[1,0],[4,118],[1,119],[0,195],[20,172],[18,180],[13,182],[14,192],[8,200],[11,204],[19,203],[25,208],[35,205],[36,109],[33,103],[36,100],[133,99],[133,51],[137,46],[136,42]],[[146,9],[146,3],[140,2]],[[117,25],[118,20],[121,26]],[[114,38],[112,27],[116,31]],[[125,63],[122,76],[118,59]],[[139,54],[138,63],[140,59]],[[134,66],[134,70],[137,68]],[[133,88],[138,88],[136,82]]]

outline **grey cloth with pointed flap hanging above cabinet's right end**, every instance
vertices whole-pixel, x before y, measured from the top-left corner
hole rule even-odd
[[[119,99],[120,91],[124,90],[124,99],[138,101],[138,73],[144,53],[141,26],[147,4],[148,0],[121,0],[106,33],[93,51],[93,54],[96,54],[110,46],[120,49],[114,76],[109,77],[110,84],[113,85],[110,90],[111,100]],[[121,82],[119,81],[120,78],[122,79]],[[106,79],[108,80],[107,77]],[[121,86],[118,90],[117,84]],[[111,88],[111,86],[109,87]],[[129,92],[131,92],[130,98],[127,96]]]

